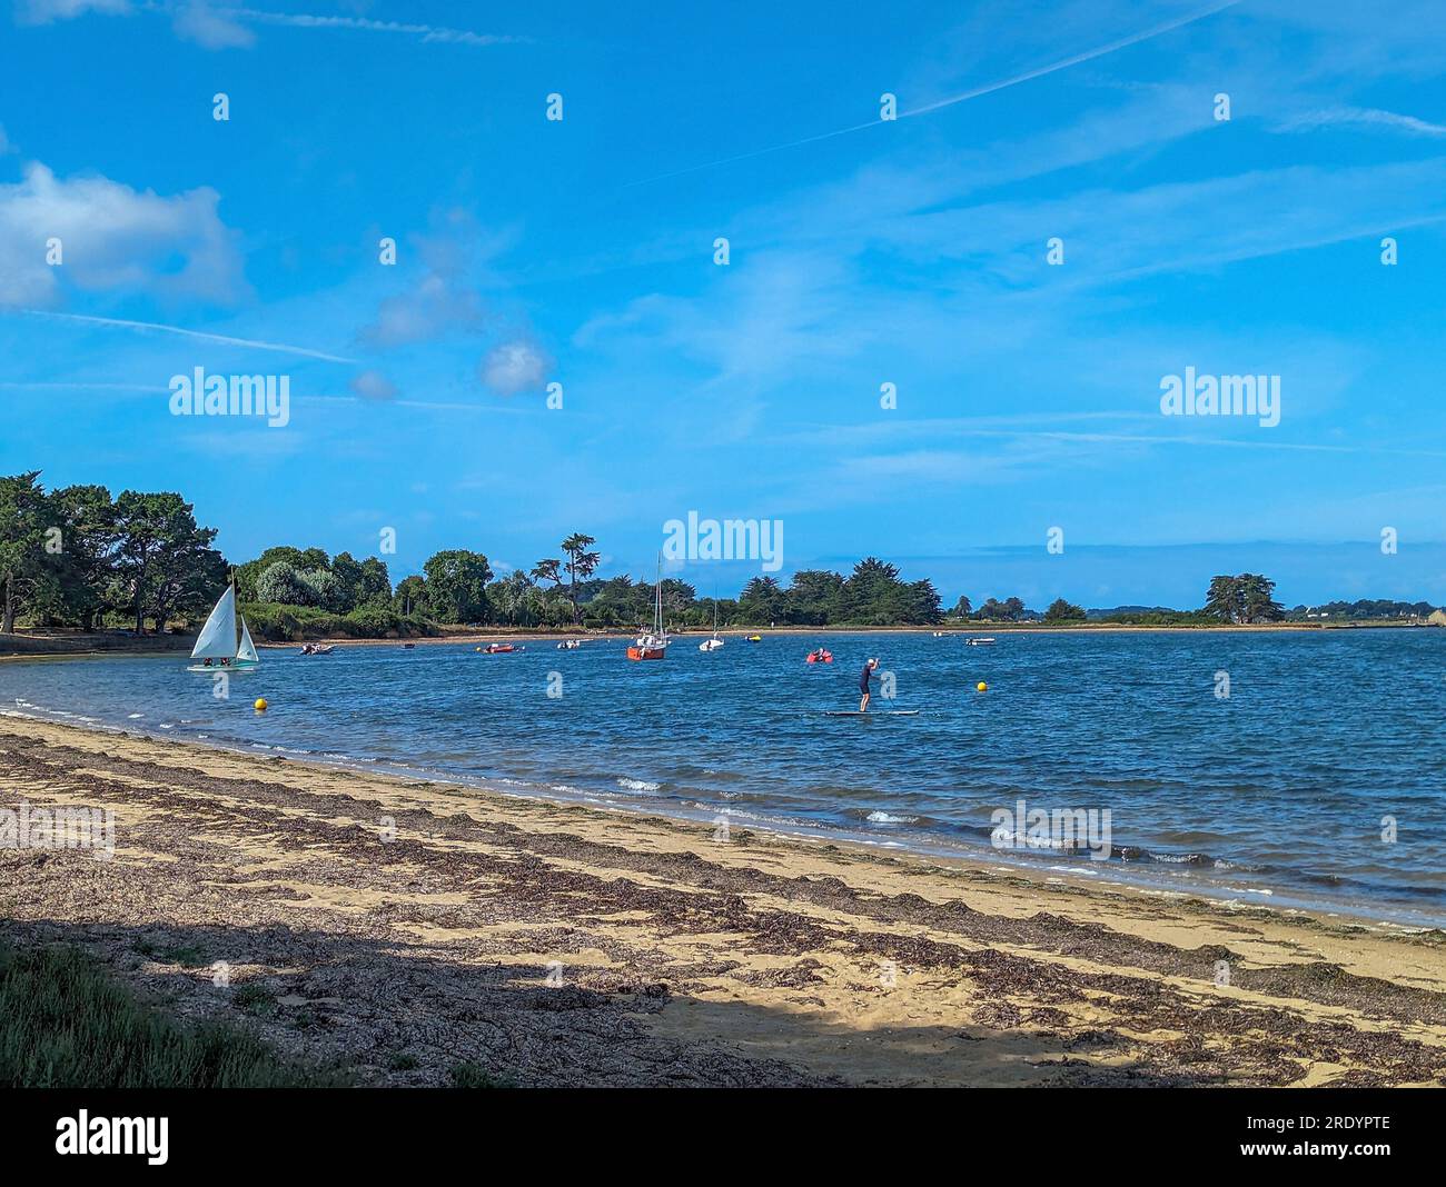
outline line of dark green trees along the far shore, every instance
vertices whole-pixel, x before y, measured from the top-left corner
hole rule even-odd
[[[228,575],[253,630],[268,638],[315,634],[388,637],[435,634],[441,625],[516,628],[632,628],[654,614],[654,585],[620,575],[599,578],[594,537],[571,533],[557,555],[528,569],[493,572],[482,552],[447,549],[421,573],[395,586],[386,562],[348,552],[279,546],[241,565],[213,547],[217,530],[195,520],[179,494],[77,485],[46,491],[39,471],[0,477],[0,630],[19,618],[40,630],[94,631],[124,621],[137,632],[150,622],[198,625]],[[1275,601],[1275,583],[1259,573],[1210,581],[1205,606],[1102,617],[1057,598],[1043,612],[1021,598],[988,598],[977,608],[962,596],[944,611],[930,581],[904,581],[897,566],[865,557],[847,575],[804,569],[788,583],[750,579],[735,598],[698,596],[678,578],[662,581],[667,625],[720,627],[928,627],[949,622],[1160,622],[1255,624],[1299,618]],[[1332,602],[1330,611],[1429,614],[1426,602]],[[1348,615],[1340,615],[1348,617]]]

